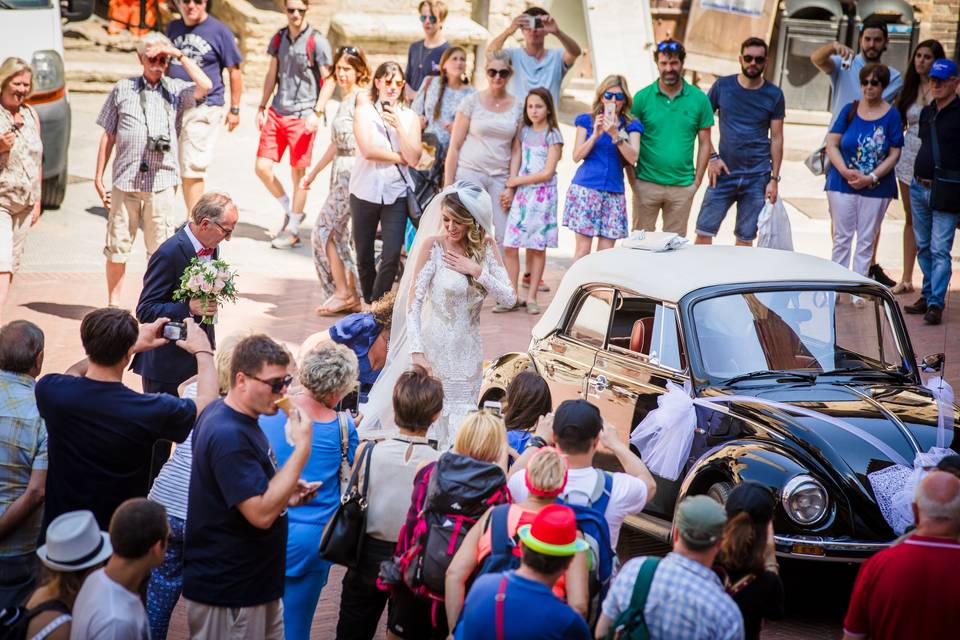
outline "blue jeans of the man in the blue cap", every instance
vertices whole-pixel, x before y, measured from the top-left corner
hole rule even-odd
[[[943,309],[953,262],[950,249],[957,232],[957,214],[930,207],[930,189],[916,180],[910,185],[913,235],[917,239],[917,263],[923,271],[923,297],[928,306]]]

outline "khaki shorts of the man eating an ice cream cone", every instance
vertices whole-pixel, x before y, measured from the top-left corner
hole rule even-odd
[[[183,599],[191,638],[217,640],[283,640],[283,602],[255,607],[214,607]]]

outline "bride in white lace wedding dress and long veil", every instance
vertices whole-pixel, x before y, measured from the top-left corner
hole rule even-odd
[[[480,308],[487,294],[504,306],[516,302],[494,241],[490,196],[476,184],[456,182],[421,218],[394,306],[387,363],[362,408],[365,435],[395,429],[393,386],[418,364],[443,383],[443,413],[429,437],[440,451],[450,448],[463,418],[477,408]]]

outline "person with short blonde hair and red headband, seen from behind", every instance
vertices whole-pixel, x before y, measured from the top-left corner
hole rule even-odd
[[[543,447],[530,458],[525,473],[530,490],[527,499],[488,510],[453,557],[447,569],[444,597],[448,620],[459,618],[471,577],[520,565],[517,530],[531,524],[541,509],[557,501],[567,483],[567,460],[558,449]],[[554,585],[553,592],[586,616],[589,588],[585,553],[576,555],[567,573]]]

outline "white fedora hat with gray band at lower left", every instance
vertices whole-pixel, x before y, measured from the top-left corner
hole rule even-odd
[[[54,571],[81,571],[110,557],[110,534],[100,531],[91,511],[69,511],[47,526],[47,543],[37,549],[40,561]]]

